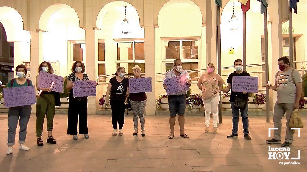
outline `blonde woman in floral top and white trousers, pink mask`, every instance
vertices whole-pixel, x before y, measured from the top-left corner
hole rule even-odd
[[[225,84],[219,74],[214,73],[215,65],[209,63],[207,73],[202,74],[198,80],[197,86],[202,91],[202,99],[205,107],[205,133],[209,132],[209,119],[212,113],[213,134],[217,134],[218,105],[220,102],[220,92]]]

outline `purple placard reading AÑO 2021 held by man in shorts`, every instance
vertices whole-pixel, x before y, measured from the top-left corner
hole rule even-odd
[[[188,78],[186,75],[180,75],[173,78],[164,79],[164,84],[167,86],[166,93],[172,94],[189,90],[187,81]]]

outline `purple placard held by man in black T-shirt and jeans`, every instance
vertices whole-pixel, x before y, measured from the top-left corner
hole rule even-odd
[[[232,77],[232,91],[247,93],[258,93],[258,77],[251,76],[233,76]]]

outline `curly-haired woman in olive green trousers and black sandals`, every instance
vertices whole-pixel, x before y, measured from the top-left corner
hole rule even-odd
[[[42,62],[39,65],[38,72],[47,72],[53,74],[52,66],[49,62]],[[64,78],[63,78],[64,81]],[[44,142],[41,139],[43,133],[43,124],[45,116],[47,119],[47,131],[48,138],[47,143],[56,144],[56,139],[52,136],[53,130],[53,118],[55,116],[55,106],[61,106],[60,94],[58,92],[51,91],[51,88],[39,87],[39,75],[36,76],[36,88],[42,90],[40,97],[37,99],[36,104],[36,137],[37,145],[44,146]]]

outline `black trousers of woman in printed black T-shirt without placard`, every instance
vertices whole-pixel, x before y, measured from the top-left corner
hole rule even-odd
[[[125,110],[126,110],[126,105],[124,104],[124,100],[110,100],[110,105],[112,111],[113,129],[117,129],[117,121],[118,121],[118,129],[122,129],[125,122]]]

